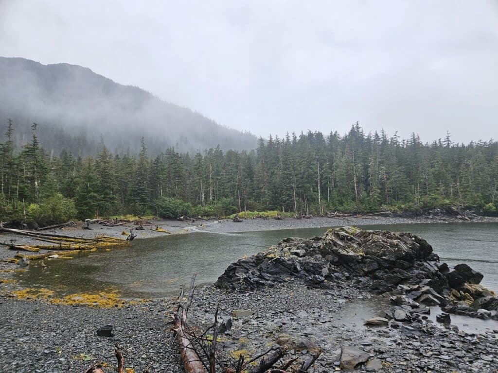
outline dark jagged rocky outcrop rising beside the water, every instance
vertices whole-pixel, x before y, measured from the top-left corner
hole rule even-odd
[[[474,312],[490,311],[481,313],[482,318],[498,318],[498,298],[479,285],[482,274],[466,264],[450,269],[427,241],[411,233],[341,227],[321,237],[286,238],[231,264],[216,286],[245,292],[294,278],[322,288],[340,286],[341,280],[349,279],[389,296],[398,307],[423,312],[426,306],[458,305]],[[392,316],[412,318],[412,312],[406,311],[399,309]]]

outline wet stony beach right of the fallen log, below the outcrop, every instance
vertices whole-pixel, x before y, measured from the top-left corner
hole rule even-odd
[[[292,341],[288,358],[304,360],[322,350],[315,367],[320,373],[350,369],[341,359],[346,348],[364,354],[353,372],[492,373],[498,366],[498,330],[469,333],[416,312],[412,320],[396,321],[389,315],[388,298],[358,288],[353,280],[321,289],[295,278],[242,293],[209,286],[194,303],[189,317],[201,329],[212,323],[218,303],[222,319],[232,317],[234,309],[254,312],[249,318],[233,318],[232,329],[221,336],[219,347],[228,356],[254,356]],[[401,309],[410,315],[409,308]],[[366,319],[381,316],[387,322],[364,325]]]

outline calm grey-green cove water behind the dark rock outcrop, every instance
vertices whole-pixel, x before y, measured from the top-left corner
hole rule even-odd
[[[368,226],[410,231],[425,238],[450,266],[468,263],[484,274],[483,285],[498,289],[498,223]],[[129,247],[80,254],[73,260],[45,260],[48,269],[31,266],[18,275],[27,286],[57,288],[60,293],[120,289],[127,297],[177,293],[198,273],[199,284],[214,282],[244,255],[255,254],[284,237],[312,237],[326,228],[285,229],[239,234],[189,233],[140,239]]]

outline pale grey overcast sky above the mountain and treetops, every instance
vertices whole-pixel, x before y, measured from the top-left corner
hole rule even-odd
[[[0,0],[0,56],[89,67],[266,137],[498,139],[498,1]]]

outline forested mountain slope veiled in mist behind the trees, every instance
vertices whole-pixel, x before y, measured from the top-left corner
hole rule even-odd
[[[95,154],[102,142],[115,153],[136,153],[142,136],[151,154],[171,146],[190,153],[218,144],[236,150],[256,146],[250,133],[221,126],[88,68],[0,57],[2,135],[8,118],[14,121],[16,145],[29,140],[31,123],[36,122],[41,145],[56,154],[62,149]]]

